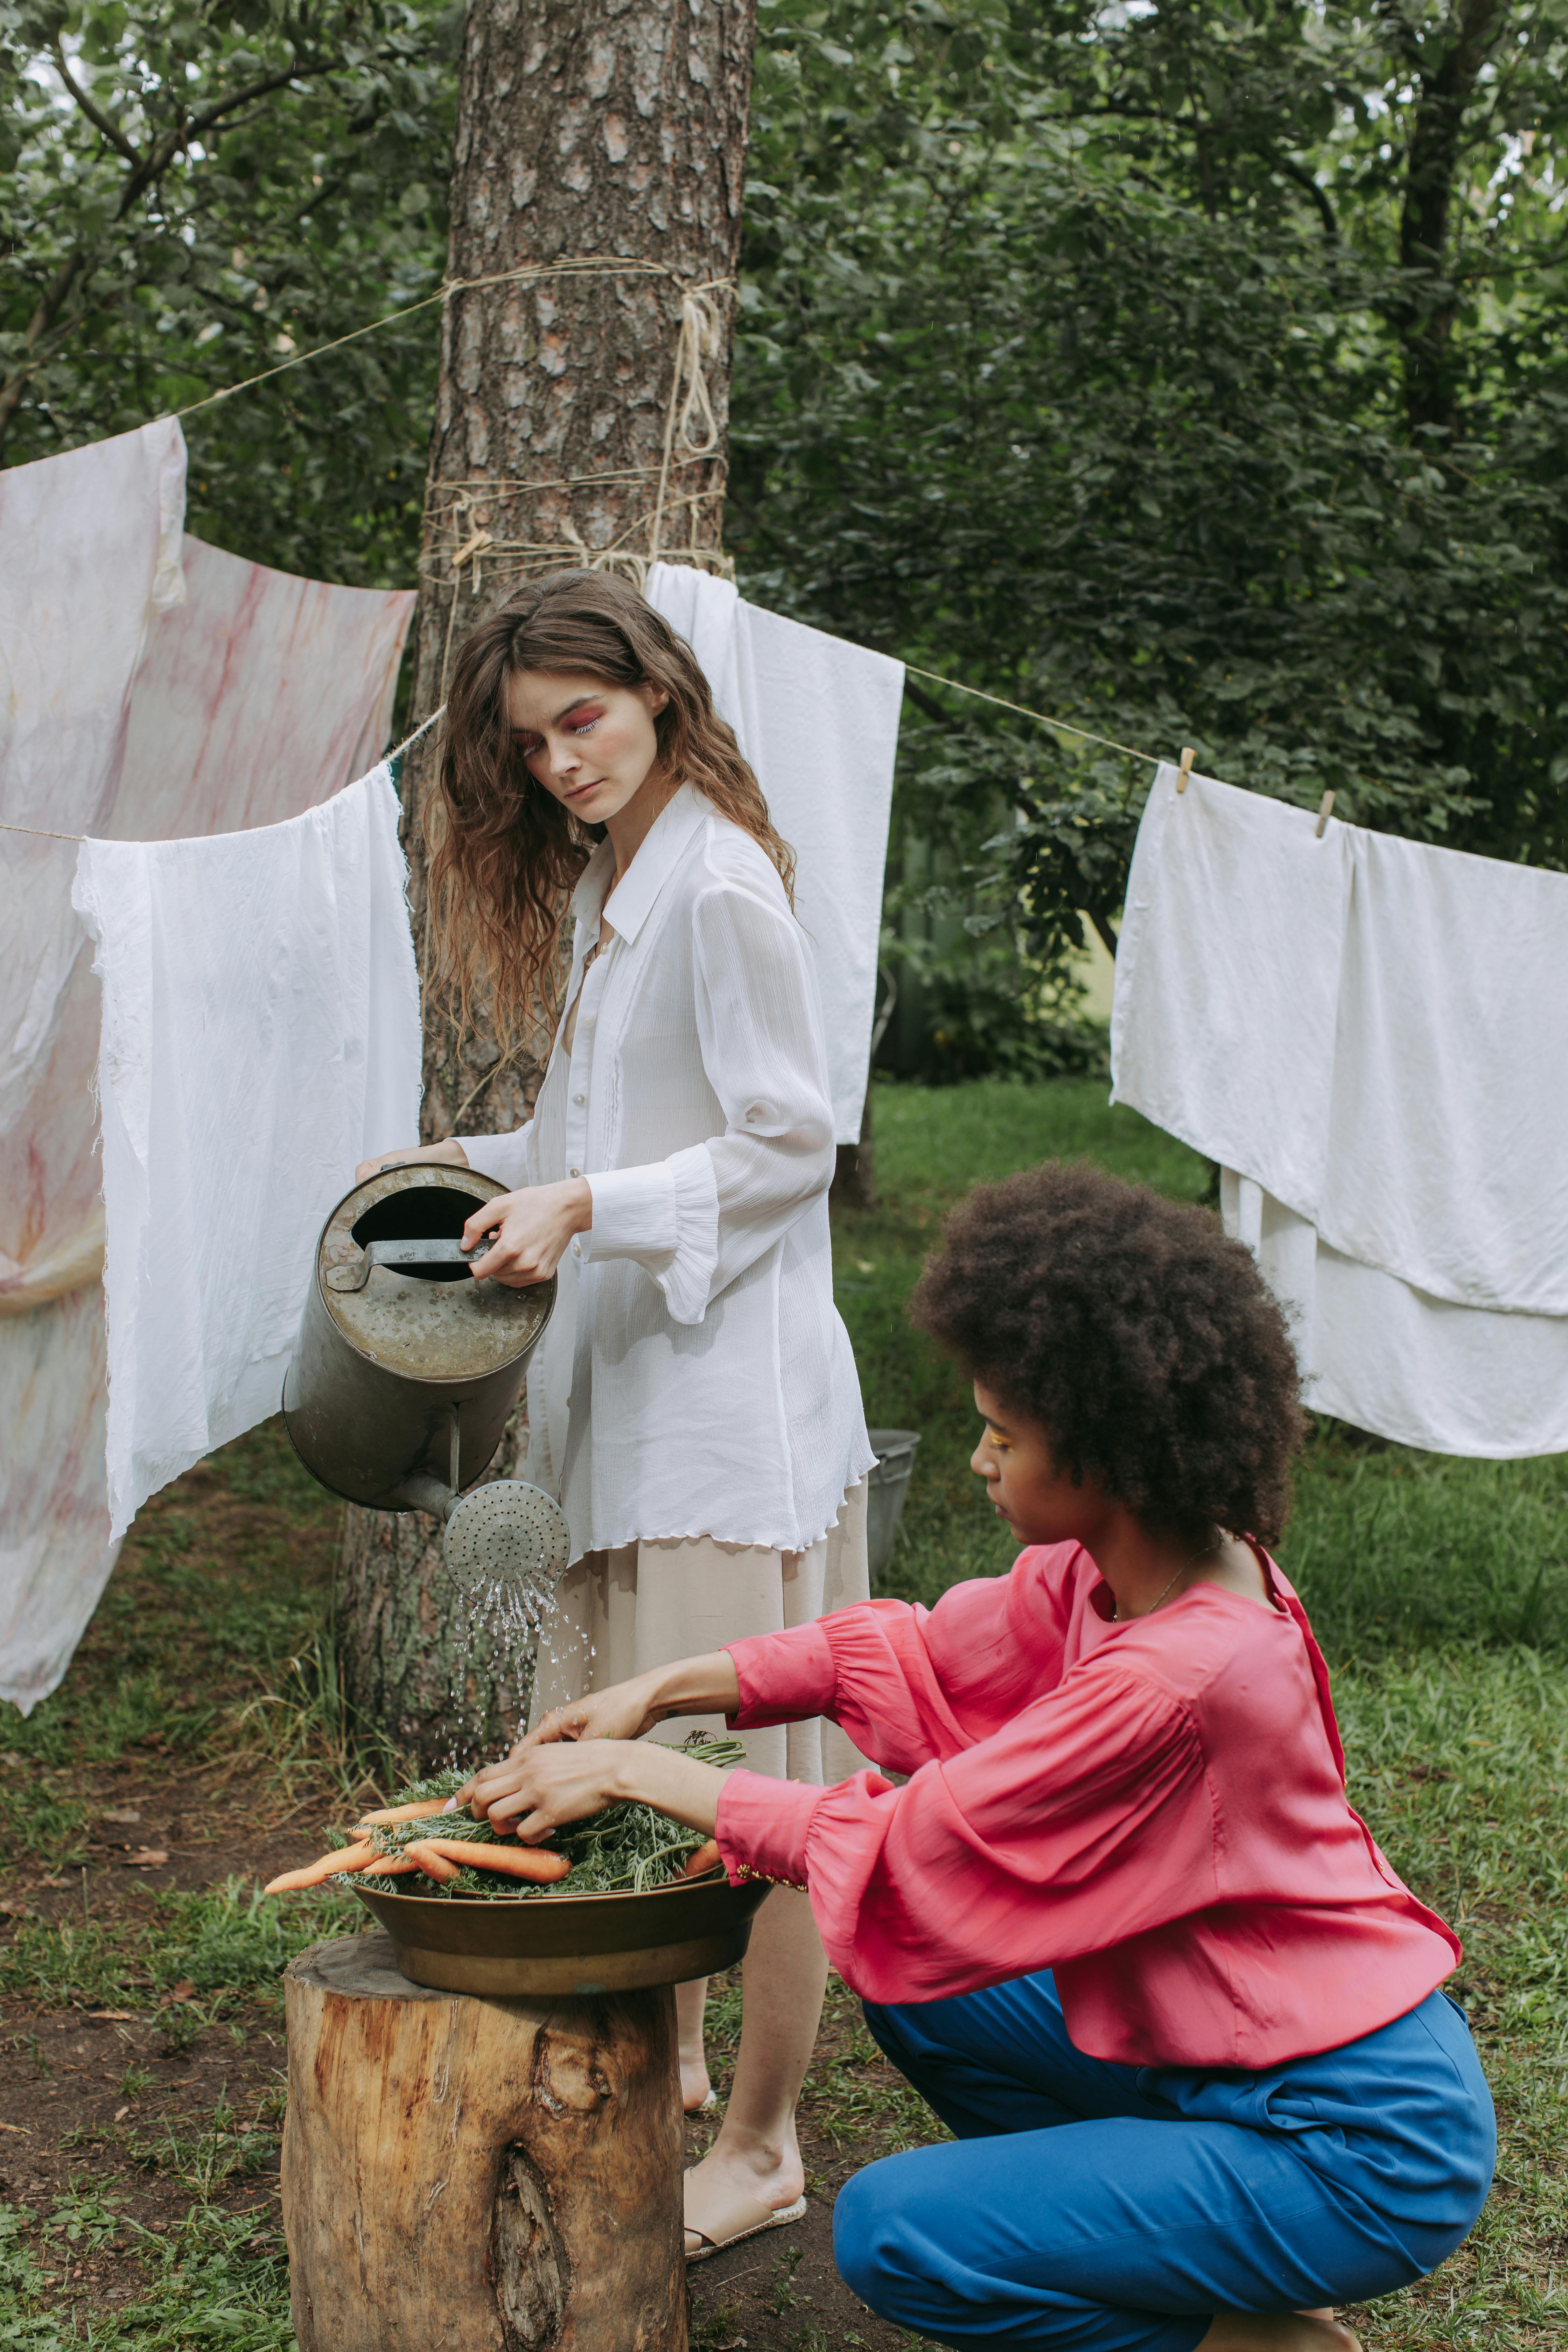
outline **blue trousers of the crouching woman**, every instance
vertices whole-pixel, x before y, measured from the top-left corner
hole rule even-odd
[[[1194,2352],[1215,2312],[1408,2286],[1490,2187],[1490,2093],[1441,1992],[1262,2074],[1086,2058],[1048,1971],[865,2020],[957,2140],[856,2173],[835,2253],[943,2345]]]

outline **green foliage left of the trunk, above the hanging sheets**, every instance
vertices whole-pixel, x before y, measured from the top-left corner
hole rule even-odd
[[[7,463],[430,294],[458,24],[447,0],[0,0]],[[407,581],[437,315],[190,419],[190,529],[317,579]]]

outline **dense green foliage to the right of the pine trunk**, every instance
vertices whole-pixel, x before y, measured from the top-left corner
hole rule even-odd
[[[1561,0],[1500,5],[1474,54],[1443,5],[764,0],[748,588],[1091,734],[1561,866],[1566,33]],[[912,691],[900,823],[959,920],[1011,891],[1058,969],[1119,908],[1152,771]]]

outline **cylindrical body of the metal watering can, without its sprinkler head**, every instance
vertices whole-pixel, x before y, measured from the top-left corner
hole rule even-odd
[[[501,1444],[555,1279],[475,1282],[463,1225],[505,1185],[416,1160],[336,1204],[282,1385],[310,1477],[374,1510],[451,1508]]]

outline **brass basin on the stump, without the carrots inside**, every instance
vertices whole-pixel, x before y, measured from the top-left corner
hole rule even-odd
[[[722,1872],[646,1896],[529,1896],[463,1903],[355,1886],[397,1945],[397,1966],[442,1992],[628,1992],[733,1969],[769,1893]]]

